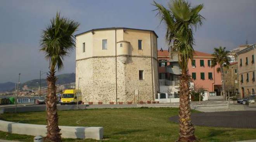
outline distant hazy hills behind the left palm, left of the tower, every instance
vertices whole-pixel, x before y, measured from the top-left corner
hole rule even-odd
[[[60,74],[57,76],[58,79],[56,81],[56,84],[63,85],[63,84],[75,82],[75,76],[76,74],[74,73]],[[33,79],[30,81],[26,81],[24,83],[21,83],[19,85],[19,88],[22,88],[24,85],[28,85],[28,88],[35,89],[39,87],[39,82],[40,82],[40,79]],[[0,83],[0,92],[13,90],[14,86],[15,86],[15,83],[12,83],[12,82]],[[41,86],[42,87],[47,86],[47,82],[45,78],[41,79]]]

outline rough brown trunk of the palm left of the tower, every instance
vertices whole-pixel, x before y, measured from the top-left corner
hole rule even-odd
[[[57,97],[56,97],[56,82],[55,69],[50,69],[50,74],[47,76],[48,94],[46,99],[46,112],[47,112],[47,136],[46,141],[61,142],[60,129],[58,127],[58,114],[57,114]]]

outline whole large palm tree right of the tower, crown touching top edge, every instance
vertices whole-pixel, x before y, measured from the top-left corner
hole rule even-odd
[[[204,7],[203,4],[195,7],[185,0],[172,0],[169,3],[169,9],[163,5],[154,2],[157,11],[161,17],[161,22],[166,24],[166,42],[169,46],[171,56],[178,56],[178,62],[182,69],[180,76],[180,137],[177,142],[194,142],[195,128],[191,121],[190,108],[190,76],[187,74],[189,59],[193,58],[194,37],[193,31],[202,25],[202,17],[199,12]]]

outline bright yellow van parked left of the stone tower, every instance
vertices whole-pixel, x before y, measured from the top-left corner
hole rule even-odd
[[[67,89],[61,95],[61,105],[75,105],[82,103],[81,90]]]

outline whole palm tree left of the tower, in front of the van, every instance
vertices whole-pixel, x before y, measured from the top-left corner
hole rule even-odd
[[[58,127],[57,97],[55,82],[56,69],[63,68],[62,60],[68,56],[75,47],[74,32],[79,24],[73,20],[60,17],[57,12],[56,17],[50,21],[50,25],[43,30],[41,35],[40,51],[45,52],[45,57],[49,61],[50,71],[47,74],[48,94],[46,98],[47,112],[47,136],[46,140],[61,142],[60,129]]]

